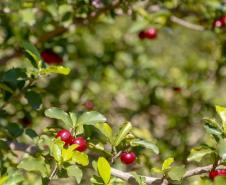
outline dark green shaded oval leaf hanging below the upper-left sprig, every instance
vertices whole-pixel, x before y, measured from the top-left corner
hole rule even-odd
[[[28,103],[32,106],[33,109],[38,109],[42,103],[42,98],[40,94],[34,91],[27,91],[25,97],[28,100]]]

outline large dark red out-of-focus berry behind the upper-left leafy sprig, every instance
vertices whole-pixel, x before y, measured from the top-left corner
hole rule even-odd
[[[50,65],[51,64],[59,65],[63,63],[63,59],[52,50],[44,50],[41,53],[41,57],[44,60],[44,62]]]

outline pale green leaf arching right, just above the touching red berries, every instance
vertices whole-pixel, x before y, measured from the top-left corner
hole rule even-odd
[[[104,123],[106,118],[96,111],[85,112],[78,118],[78,125],[95,125],[96,123]]]

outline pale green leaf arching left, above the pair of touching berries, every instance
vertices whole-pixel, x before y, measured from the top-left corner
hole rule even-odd
[[[72,128],[73,124],[69,115],[62,109],[52,107],[45,111],[45,115],[49,118],[58,119],[64,122],[64,127],[66,129]]]

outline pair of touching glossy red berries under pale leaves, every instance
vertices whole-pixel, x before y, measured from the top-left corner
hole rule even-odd
[[[88,148],[88,142],[83,137],[75,138],[66,129],[62,129],[59,132],[57,132],[56,137],[59,137],[62,141],[65,142],[66,145],[73,145],[73,144],[78,145],[76,150],[80,152],[83,152]]]

